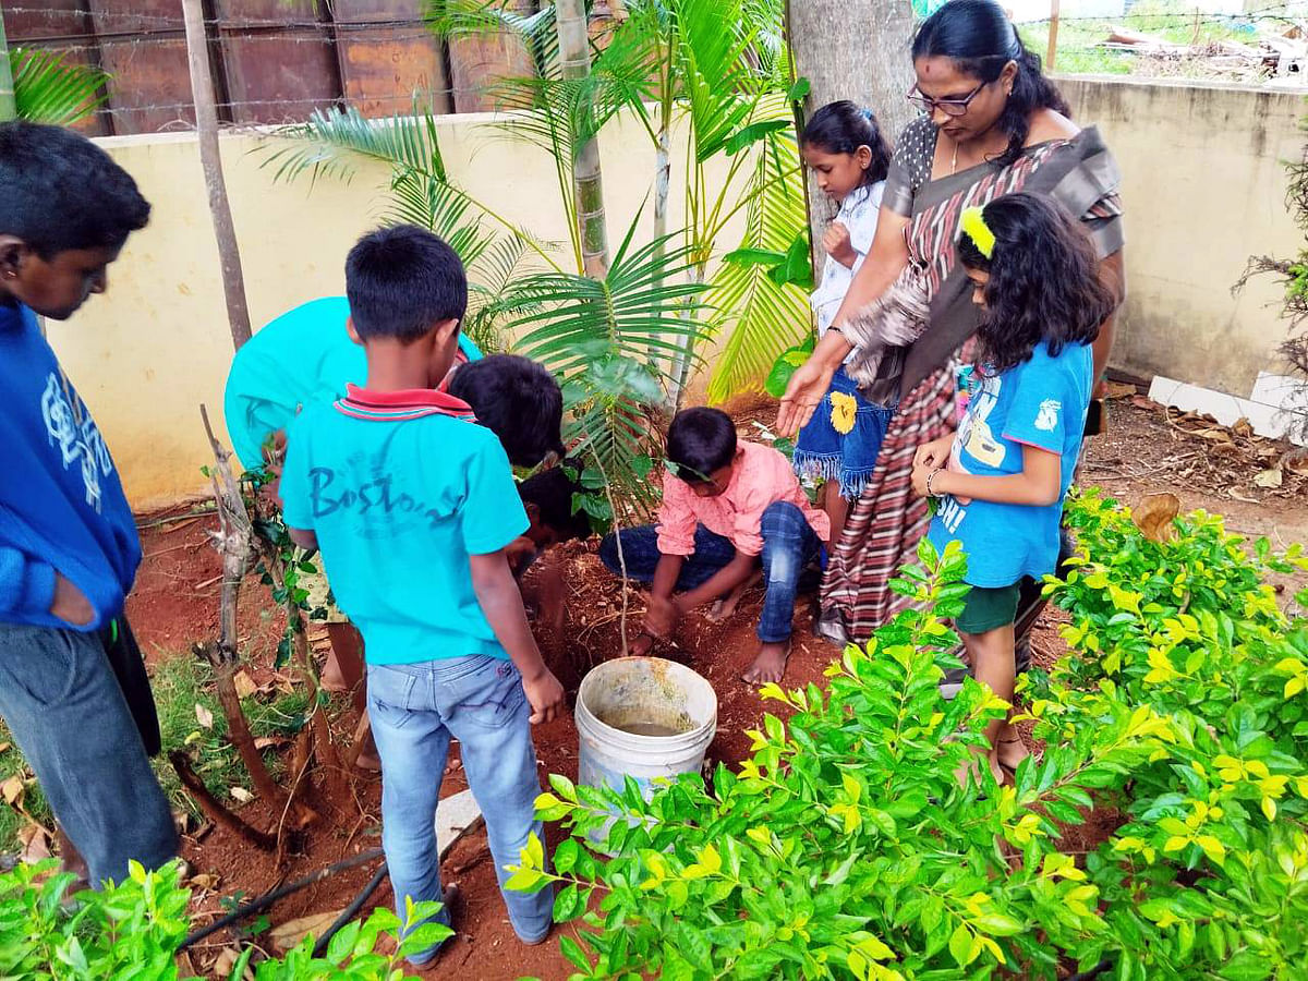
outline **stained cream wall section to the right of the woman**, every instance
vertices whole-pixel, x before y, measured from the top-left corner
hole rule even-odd
[[[1250,255],[1303,247],[1283,166],[1303,153],[1303,95],[1105,78],[1061,88],[1122,169],[1129,292],[1114,366],[1248,396],[1260,370],[1283,370],[1281,289],[1270,279],[1231,288]]]

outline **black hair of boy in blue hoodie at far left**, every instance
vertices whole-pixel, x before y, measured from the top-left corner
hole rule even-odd
[[[149,218],[131,174],[85,136],[0,123],[0,233],[48,260],[72,249],[122,249]]]

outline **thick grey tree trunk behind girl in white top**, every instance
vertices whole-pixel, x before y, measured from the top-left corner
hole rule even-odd
[[[916,110],[905,95],[913,85],[913,5],[909,0],[794,0],[787,31],[795,75],[808,78],[804,118],[836,99],[872,110],[893,143]],[[836,208],[808,174],[808,225],[814,273],[821,276],[821,235]]]

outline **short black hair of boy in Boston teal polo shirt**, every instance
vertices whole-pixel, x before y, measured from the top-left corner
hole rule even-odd
[[[462,320],[468,277],[458,254],[417,225],[377,229],[345,258],[345,294],[364,340],[425,336],[442,320]]]

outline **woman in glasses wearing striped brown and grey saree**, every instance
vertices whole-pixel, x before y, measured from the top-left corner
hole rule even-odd
[[[1084,222],[1118,298],[1124,289],[1117,166],[1093,128],[1067,119],[1003,9],[951,0],[918,30],[913,65],[909,98],[923,116],[896,146],[867,262],[833,330],[793,375],[777,420],[783,434],[807,422],[852,349],[845,370],[865,394],[899,404],[823,581],[819,629],[837,641],[866,640],[896,612],[889,581],[926,531],[913,456],[954,428],[955,357],[977,327],[954,251],[961,212],[1015,191],[1049,194]],[[1112,336],[1109,320],[1095,344],[1096,378]]]

